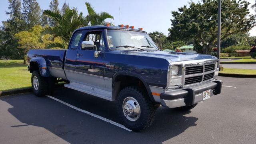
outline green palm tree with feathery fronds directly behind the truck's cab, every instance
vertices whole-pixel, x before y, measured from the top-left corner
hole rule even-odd
[[[44,10],[43,14],[52,20],[54,20],[57,25],[55,27],[47,27],[42,31],[42,37],[46,34],[52,35],[52,40],[59,37],[63,40],[63,43],[50,43],[46,48],[67,48],[68,42],[72,33],[77,28],[90,25],[104,25],[107,22],[107,18],[114,19],[113,16],[107,12],[100,12],[97,14],[90,3],[86,2],[86,8],[88,10],[88,15],[86,17],[82,16],[82,12],[78,14],[76,8],[67,8],[63,14],[60,12],[53,12],[51,10]],[[113,25],[110,23],[110,25]]]

